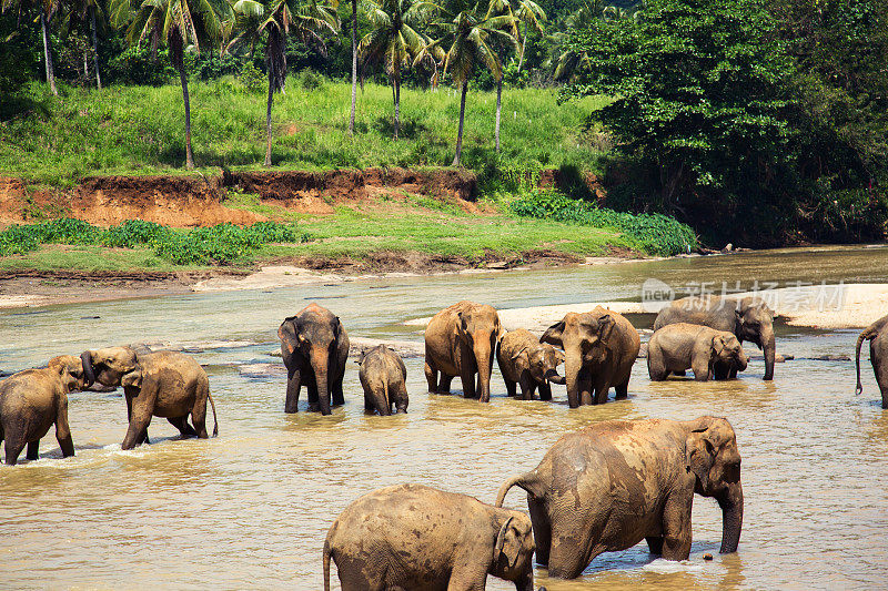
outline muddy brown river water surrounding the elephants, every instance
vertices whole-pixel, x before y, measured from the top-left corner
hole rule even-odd
[[[350,363],[346,405],[332,417],[283,412],[284,376],[269,353],[279,348],[281,319],[311,300],[340,315],[353,336],[420,342],[417,327],[403,322],[458,299],[500,308],[637,300],[648,277],[676,286],[739,279],[744,288],[756,279],[888,283],[888,249],[361,279],[0,312],[4,370],[108,344],[192,344],[220,420],[219,438],[181,441],[155,419],[153,444],[123,452],[122,398],[72,394],[77,456],[61,459],[51,430],[39,460],[0,468],[0,588],[316,590],[326,529],[364,492],[412,481],[492,502],[503,480],[536,466],[567,430],[613,418],[704,414],[726,416],[737,431],[746,496],[739,552],[717,553],[720,511],[696,497],[687,562],[654,560],[643,543],[597,558],[575,581],[538,570],[538,584],[549,591],[888,585],[888,410],[877,403],[868,364],[865,394],[855,397],[854,361],[815,359],[852,356],[858,330],[778,323],[777,350],[795,359],[777,365],[773,383],[761,380],[758,359],[735,381],[652,384],[642,360],[627,400],[577,410],[568,410],[563,387],[554,388],[556,404],[507,399],[498,370],[490,405],[430,396],[422,359],[411,358],[410,412],[365,416]],[[653,324],[653,316],[632,319]],[[304,409],[304,393],[300,404]],[[508,505],[523,502],[518,491],[509,493]],[[713,562],[703,560],[706,552]],[[487,584],[511,588],[493,578]]]

